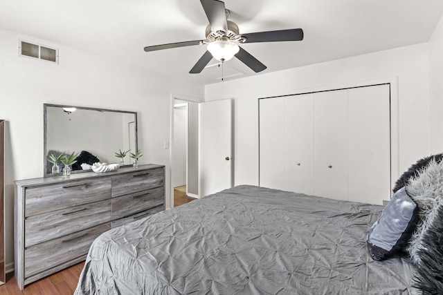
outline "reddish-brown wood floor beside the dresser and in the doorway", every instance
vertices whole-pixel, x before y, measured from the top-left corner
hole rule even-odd
[[[186,192],[174,189],[174,207],[186,204],[195,200],[186,196]],[[78,278],[82,272],[84,262],[73,265],[37,280],[37,282],[27,285],[23,290],[19,289],[14,274],[6,274],[6,284],[0,286],[0,295],[72,295],[77,287]]]

